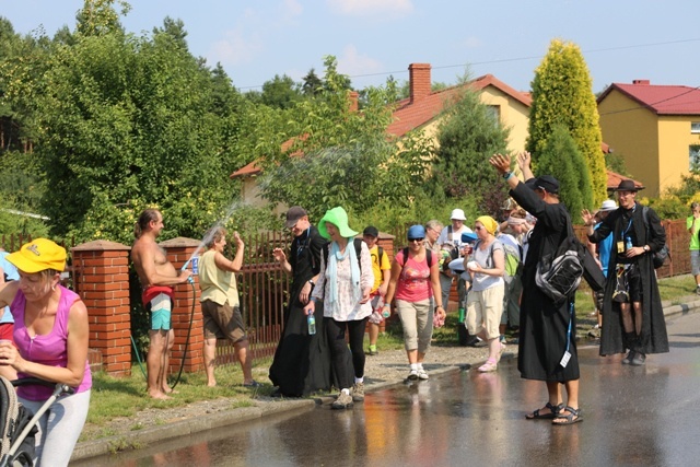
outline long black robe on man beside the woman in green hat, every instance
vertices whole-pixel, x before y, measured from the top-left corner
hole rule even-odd
[[[320,252],[327,243],[314,226],[292,241],[289,262],[293,279],[289,306],[284,310],[284,329],[269,374],[272,384],[288,397],[330,390],[330,349],[323,325],[324,304],[316,302],[316,334],[310,336],[304,304],[299,300],[304,284],[319,272]]]

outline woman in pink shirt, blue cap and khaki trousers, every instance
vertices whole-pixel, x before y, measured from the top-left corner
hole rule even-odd
[[[428,380],[423,360],[433,336],[433,310],[444,320],[445,310],[440,303],[440,258],[425,249],[425,229],[408,229],[408,247],[396,254],[392,262],[392,278],[384,302],[388,310],[396,296],[396,312],[404,327],[404,346],[410,364],[409,380]]]

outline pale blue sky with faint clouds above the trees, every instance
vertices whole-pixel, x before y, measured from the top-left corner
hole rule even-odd
[[[467,73],[495,75],[528,91],[553,38],[576,44],[593,92],[635,79],[700,85],[698,0],[131,0],[122,25],[150,34],[183,20],[192,55],[221,62],[242,91],[276,74],[295,81],[323,57],[355,89],[408,80],[410,63],[430,63],[433,82]],[[82,0],[0,0],[16,33],[49,36],[75,27]]]

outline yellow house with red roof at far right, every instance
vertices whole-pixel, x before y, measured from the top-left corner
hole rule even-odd
[[[649,80],[612,83],[598,97],[603,140],[619,153],[644,196],[658,197],[688,175],[700,154],[700,91]]]

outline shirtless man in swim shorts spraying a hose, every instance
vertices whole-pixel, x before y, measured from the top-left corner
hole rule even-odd
[[[170,351],[175,339],[171,326],[173,285],[186,282],[191,276],[189,270],[178,275],[165,257],[165,252],[155,243],[163,226],[160,211],[144,210],[133,227],[136,242],[131,247],[131,260],[143,288],[141,300],[145,310],[151,312],[151,345],[145,366],[148,393],[154,399],[170,399],[167,394],[173,392],[167,387],[166,380]]]

